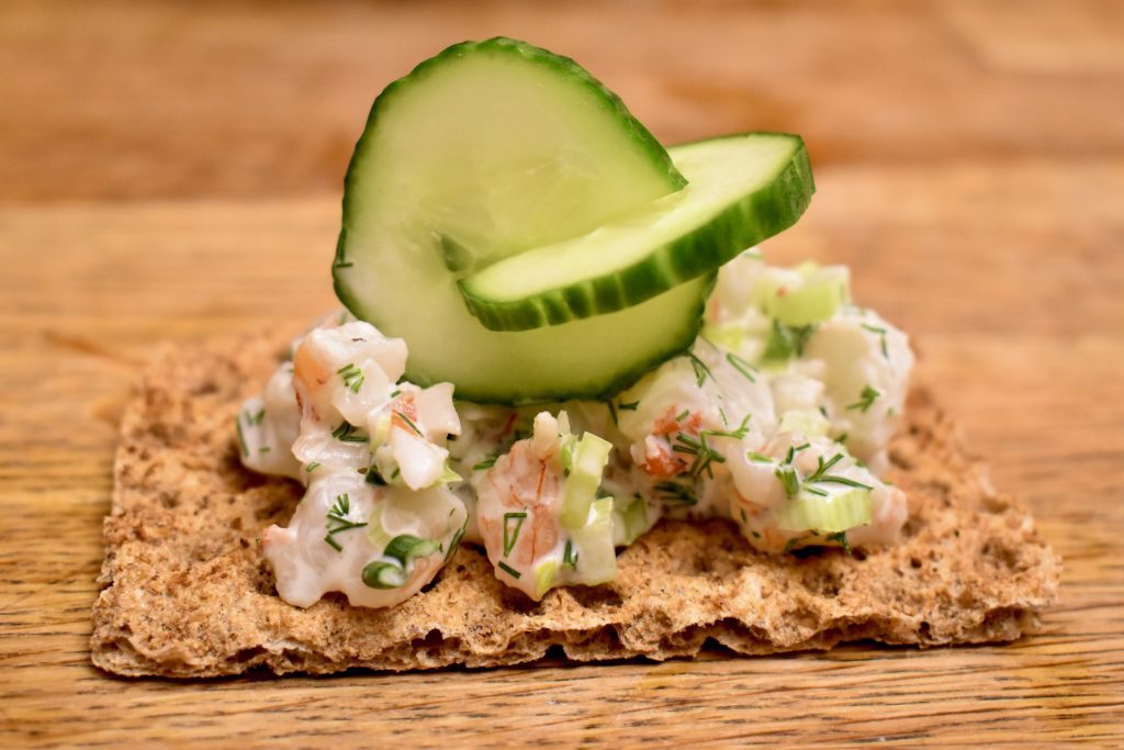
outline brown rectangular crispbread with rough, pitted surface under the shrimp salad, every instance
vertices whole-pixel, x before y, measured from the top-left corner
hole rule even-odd
[[[120,675],[208,677],[350,668],[526,662],[561,647],[578,661],[690,657],[708,639],[746,654],[842,641],[937,645],[1033,632],[1060,560],[1025,508],[989,489],[924,388],[909,397],[890,479],[909,497],[905,542],[850,558],[753,552],[725,521],[661,522],[618,557],[613,584],[506,589],[462,548],[391,609],[329,595],[278,598],[256,537],[285,524],[292,481],[242,468],[233,417],[261,390],[279,337],[167,349],[126,409],[105,524],[93,662]]]

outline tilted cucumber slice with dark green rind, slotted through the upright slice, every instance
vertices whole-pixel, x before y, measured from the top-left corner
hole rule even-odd
[[[746,133],[670,153],[683,190],[466,277],[469,309],[489,328],[525,331],[636,305],[787,229],[815,190],[799,136]]]

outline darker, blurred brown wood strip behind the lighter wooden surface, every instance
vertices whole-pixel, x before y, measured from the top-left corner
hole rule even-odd
[[[664,142],[787,129],[819,168],[1124,151],[1124,3],[0,6],[0,198],[339,189],[371,99],[456,40],[580,61]]]

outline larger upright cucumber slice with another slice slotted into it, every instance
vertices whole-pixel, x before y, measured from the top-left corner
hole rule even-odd
[[[596,325],[502,334],[468,311],[456,281],[682,186],[660,144],[573,61],[511,39],[459,44],[371,109],[345,180],[336,293],[406,340],[414,382],[452,381],[474,401],[596,397],[690,345],[709,279]]]

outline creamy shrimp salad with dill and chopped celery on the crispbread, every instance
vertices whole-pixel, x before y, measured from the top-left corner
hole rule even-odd
[[[534,599],[616,576],[662,517],[725,517],[750,545],[892,544],[882,478],[913,368],[906,335],[850,301],[843,266],[719,272],[701,335],[602,401],[505,407],[404,379],[408,352],[334,316],[296,342],[237,417],[243,463],[306,487],[261,536],[278,593],[389,607],[457,545]]]

